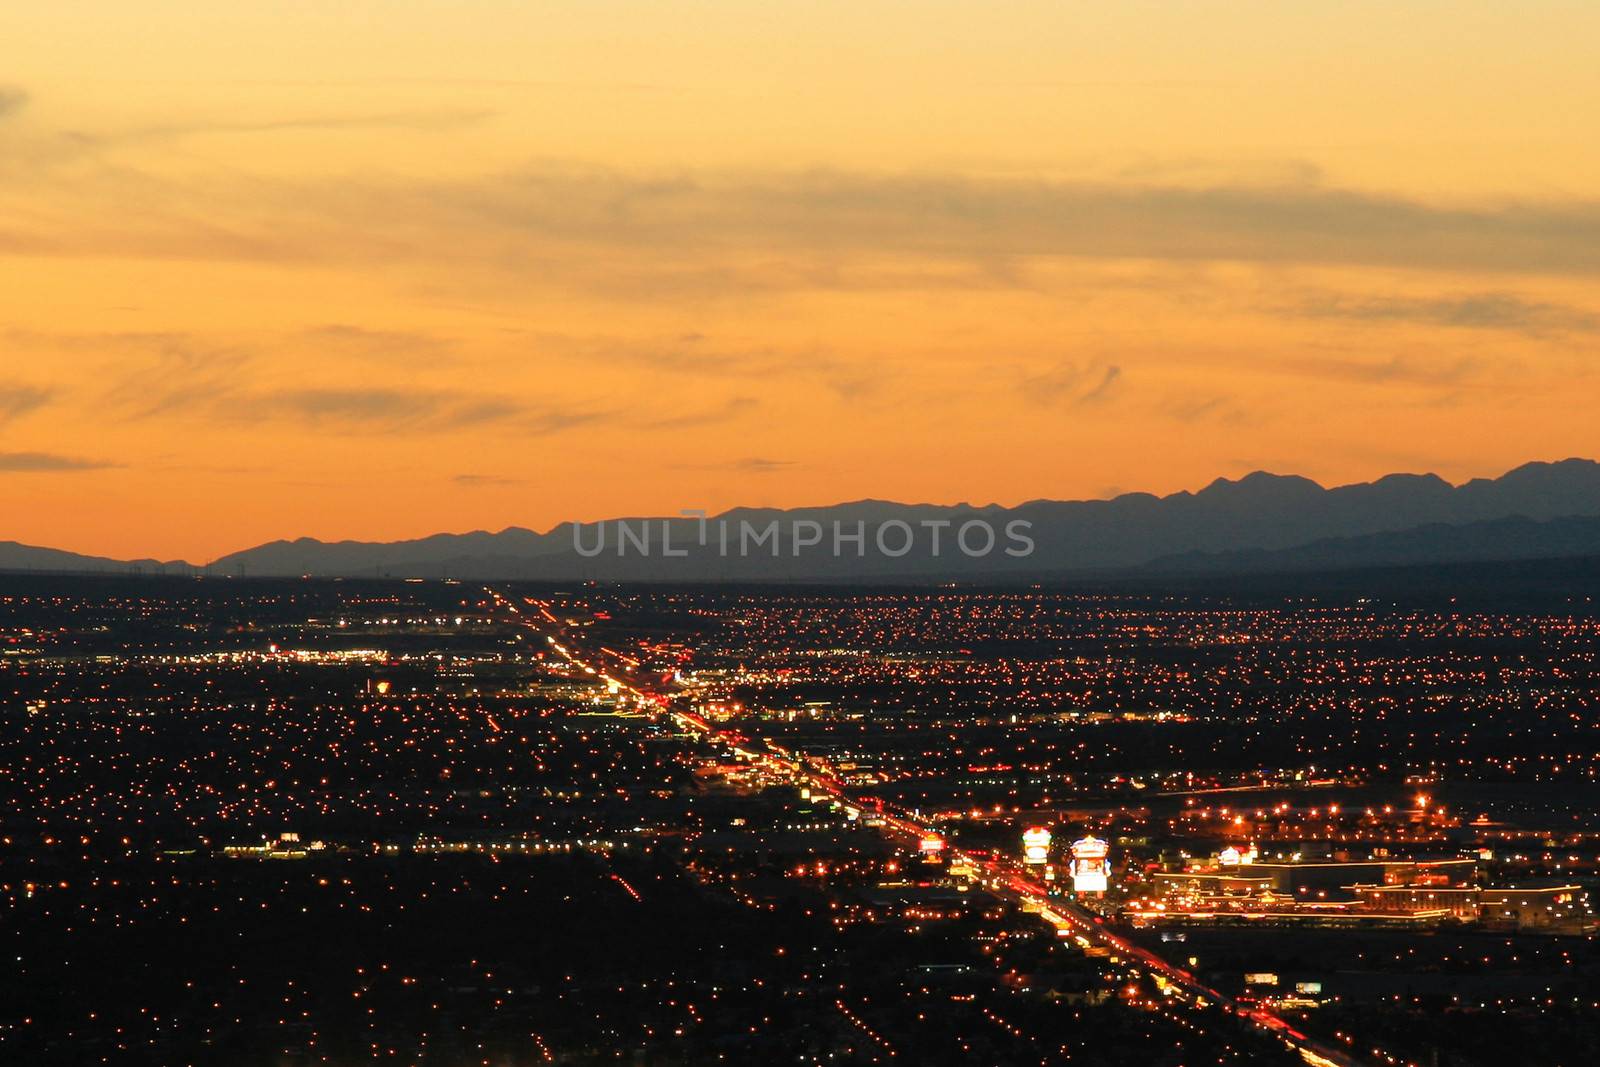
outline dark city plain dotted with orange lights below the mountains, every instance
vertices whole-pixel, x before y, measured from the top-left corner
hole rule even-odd
[[[0,1049],[1589,1062],[1600,569],[1546,571],[3,574]]]

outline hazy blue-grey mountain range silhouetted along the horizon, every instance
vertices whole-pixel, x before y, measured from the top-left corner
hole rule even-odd
[[[957,534],[968,523],[994,531],[990,550],[962,550]],[[770,526],[771,536],[758,537]],[[832,542],[835,528],[843,534],[838,553]],[[858,533],[859,542],[853,539]],[[982,526],[968,533],[973,536],[962,544],[986,545]],[[934,536],[941,539],[938,553]],[[813,537],[819,537],[819,544],[806,544]],[[1024,553],[1026,542],[1030,552]],[[909,550],[899,553],[902,545]],[[1006,553],[1008,547],[1016,553]],[[562,523],[546,533],[512,526],[499,533],[434,534],[395,542],[299,537],[234,552],[205,568],[0,542],[0,569],[555,581],[931,581],[1267,573],[1581,555],[1600,555],[1600,464],[1589,459],[1531,462],[1498,478],[1462,485],[1437,475],[1395,474],[1323,488],[1309,478],[1256,472],[1238,480],[1218,478],[1194,493],[1029,501],[1016,507],[856,501],[787,510],[733,509],[704,523],[699,518],[635,517],[578,526]]]

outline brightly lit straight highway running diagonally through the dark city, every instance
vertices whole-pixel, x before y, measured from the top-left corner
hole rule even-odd
[[[870,819],[872,825],[877,825],[890,837],[909,838],[912,849],[917,848],[917,843],[923,837],[936,833],[931,824],[918,821],[902,808],[886,805],[878,798],[858,800],[850,797],[842,782],[806,768],[803,760],[794,752],[766,737],[746,737],[714,726],[691,710],[672,707],[674,697],[682,696],[682,691],[678,691],[670,675],[654,681],[643,678],[627,680],[627,675],[634,673],[637,661],[611,648],[584,648],[581,638],[570,633],[571,627],[550,611],[550,603],[522,598],[522,606],[518,608],[509,597],[494,590],[488,592],[501,608],[514,614],[517,622],[536,633],[557,656],[584,673],[595,675],[597,680],[608,686],[614,686],[616,691],[627,693],[642,704],[653,707],[654,713],[670,715],[680,728],[698,733],[706,741],[725,745],[734,753],[790,779],[797,785],[810,789],[814,798],[837,801],[842,808],[856,814],[870,811],[874,816]],[[1102,949],[1115,961],[1128,965],[1133,969],[1142,969],[1157,981],[1157,985],[1168,989],[1173,997],[1186,998],[1195,1005],[1221,1008],[1248,1019],[1261,1030],[1270,1032],[1285,1045],[1296,1049],[1314,1067],[1362,1067],[1363,1064],[1363,1061],[1352,1057],[1349,1053],[1330,1048],[1296,1030],[1267,1008],[1242,1005],[1232,997],[1203,984],[1189,971],[1118,937],[1106,929],[1098,917],[1069,901],[1053,897],[1050,889],[1035,880],[1035,872],[1016,859],[989,854],[979,856],[962,849],[950,849],[949,859],[952,865],[970,870],[970,878],[982,885],[994,896],[1037,913],[1040,920],[1054,926],[1059,936],[1072,937],[1085,949]]]

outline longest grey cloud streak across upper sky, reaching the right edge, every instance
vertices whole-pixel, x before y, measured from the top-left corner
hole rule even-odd
[[[546,168],[438,187],[435,210],[514,240],[810,248],[992,259],[1090,256],[1600,270],[1600,203],[1445,206],[1293,181],[1203,189],[872,176]],[[374,203],[382,206],[382,195]],[[842,275],[848,283],[848,272]]]

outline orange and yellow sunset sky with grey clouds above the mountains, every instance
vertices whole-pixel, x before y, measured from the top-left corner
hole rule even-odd
[[[1594,0],[58,0],[0,42],[0,539],[1600,454]]]

